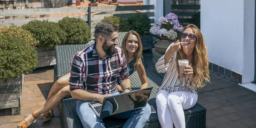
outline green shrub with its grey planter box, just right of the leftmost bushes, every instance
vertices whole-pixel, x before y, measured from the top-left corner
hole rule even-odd
[[[67,40],[65,33],[58,23],[47,20],[33,20],[21,26],[24,30],[33,34],[34,38],[39,41],[36,48],[38,52],[38,67],[46,67],[56,64],[55,45],[64,44]]]

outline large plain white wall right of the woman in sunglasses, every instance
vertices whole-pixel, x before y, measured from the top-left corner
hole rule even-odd
[[[201,0],[201,31],[209,61],[254,78],[254,0]]]

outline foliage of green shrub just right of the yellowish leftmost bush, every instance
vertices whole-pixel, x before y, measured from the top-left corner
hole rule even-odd
[[[62,45],[67,40],[67,33],[55,22],[35,19],[22,25],[21,28],[31,32],[39,41],[40,47],[53,49],[55,45]]]

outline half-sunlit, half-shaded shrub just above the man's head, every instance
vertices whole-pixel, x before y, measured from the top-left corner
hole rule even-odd
[[[129,22],[125,18],[116,16],[105,16],[101,21],[107,21],[112,23],[113,25],[116,25],[119,28],[119,32],[130,31]]]

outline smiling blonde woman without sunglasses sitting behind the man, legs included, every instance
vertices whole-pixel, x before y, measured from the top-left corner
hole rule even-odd
[[[148,81],[145,73],[145,68],[141,61],[142,57],[142,42],[140,35],[135,31],[129,31],[125,34],[122,41],[122,49],[125,53],[127,60],[129,75],[137,71],[142,83],[141,89],[148,87]],[[47,102],[40,109],[34,111],[26,119],[20,121],[17,128],[27,128],[34,120],[36,120],[41,114],[42,120],[48,121],[54,116],[52,109],[54,109],[61,102],[61,99],[70,95],[69,86],[70,73],[59,78],[53,85],[49,92]],[[118,85],[117,89],[122,92],[121,86]],[[49,111],[51,110],[51,111]],[[49,112],[47,112],[49,111]],[[46,113],[45,113],[46,112]]]

